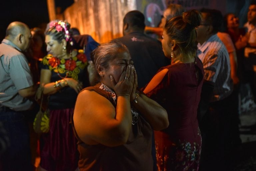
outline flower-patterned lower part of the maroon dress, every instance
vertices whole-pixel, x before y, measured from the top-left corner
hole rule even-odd
[[[155,131],[158,171],[198,171],[201,135],[194,142],[174,140],[170,135]]]

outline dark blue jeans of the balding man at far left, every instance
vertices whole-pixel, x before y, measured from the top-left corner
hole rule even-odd
[[[0,121],[9,136],[9,146],[0,156],[3,171],[32,171],[29,127],[23,112],[0,108]]]

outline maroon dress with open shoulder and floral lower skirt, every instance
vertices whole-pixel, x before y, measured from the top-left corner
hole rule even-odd
[[[201,134],[197,122],[203,66],[177,63],[168,69],[163,80],[147,95],[163,106],[168,128],[155,131],[158,171],[197,171],[201,152]],[[158,71],[158,72],[159,72]]]

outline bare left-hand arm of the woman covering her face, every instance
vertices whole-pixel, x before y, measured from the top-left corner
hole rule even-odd
[[[125,144],[131,130],[130,97],[118,96],[117,107],[94,91],[82,91],[76,101],[74,125],[86,144]],[[86,104],[86,105],[84,105]]]

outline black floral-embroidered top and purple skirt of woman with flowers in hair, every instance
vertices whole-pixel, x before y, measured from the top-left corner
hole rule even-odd
[[[87,60],[82,50],[70,59],[58,59],[51,54],[42,60],[42,69],[51,71],[51,82],[73,78],[88,86]],[[74,171],[79,154],[70,117],[73,114],[77,93],[69,86],[49,95],[50,131],[42,134],[40,166],[48,171]]]

